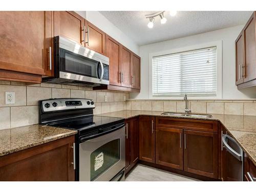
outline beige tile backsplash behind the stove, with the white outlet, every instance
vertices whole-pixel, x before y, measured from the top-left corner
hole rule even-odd
[[[5,92],[15,92],[15,103],[5,104]],[[106,96],[106,102],[105,102]],[[93,91],[90,87],[0,80],[0,130],[38,123],[38,101],[49,98],[88,98],[95,102],[94,114],[126,109],[124,92]]]

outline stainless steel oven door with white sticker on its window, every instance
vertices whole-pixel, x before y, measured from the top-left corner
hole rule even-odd
[[[79,181],[110,181],[125,166],[124,126],[79,144]]]

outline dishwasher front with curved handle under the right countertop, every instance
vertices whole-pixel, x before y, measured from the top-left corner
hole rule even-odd
[[[243,181],[244,152],[231,136],[222,135],[222,150],[224,151],[223,170],[225,181]]]

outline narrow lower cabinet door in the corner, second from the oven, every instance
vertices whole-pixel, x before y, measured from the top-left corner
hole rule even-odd
[[[132,119],[132,163],[135,165],[139,160],[139,117]]]

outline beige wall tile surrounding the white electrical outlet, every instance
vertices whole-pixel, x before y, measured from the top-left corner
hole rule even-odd
[[[14,104],[5,104],[5,92],[15,92]],[[26,104],[26,86],[0,85],[0,106],[20,106]]]

